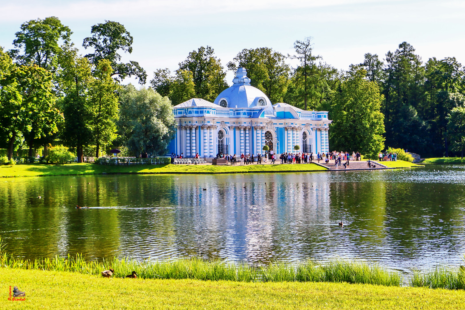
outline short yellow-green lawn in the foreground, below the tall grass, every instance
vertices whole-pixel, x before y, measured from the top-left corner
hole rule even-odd
[[[103,278],[0,268],[1,309],[460,309],[464,290],[369,284]],[[8,301],[9,286],[26,292]]]

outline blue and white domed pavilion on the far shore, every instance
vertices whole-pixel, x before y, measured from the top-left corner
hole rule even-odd
[[[250,85],[246,68],[239,68],[233,86],[215,101],[193,98],[173,106],[178,123],[169,153],[213,158],[224,154],[328,152],[327,111],[304,111],[286,103],[272,104],[264,92]],[[300,150],[295,151],[294,146]]]

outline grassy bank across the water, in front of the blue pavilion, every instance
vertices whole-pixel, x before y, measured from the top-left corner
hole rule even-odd
[[[315,164],[303,165],[96,165],[96,164],[66,164],[40,165],[17,164],[0,166],[0,177],[38,177],[57,175],[85,175],[102,173],[248,173],[248,172],[312,172],[326,171],[325,167]]]

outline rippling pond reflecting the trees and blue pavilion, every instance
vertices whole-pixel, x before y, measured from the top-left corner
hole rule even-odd
[[[0,236],[7,252],[32,259],[78,252],[88,259],[340,257],[397,270],[457,266],[465,252],[464,189],[464,165],[3,178]]]

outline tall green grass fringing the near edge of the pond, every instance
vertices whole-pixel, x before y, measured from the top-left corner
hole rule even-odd
[[[134,270],[141,278],[196,279],[210,281],[239,282],[345,282],[351,284],[374,284],[400,286],[402,278],[397,272],[390,272],[378,264],[354,261],[333,260],[325,264],[315,264],[307,260],[299,264],[272,263],[266,266],[250,264],[230,264],[221,260],[181,258],[166,261],[137,261],[134,259],[86,261],[80,254],[67,257],[27,260],[15,258],[3,251],[0,238],[0,267],[51,271],[69,271],[100,275],[112,268],[114,277],[124,277]],[[445,268],[421,274],[415,272],[411,286],[430,288],[465,289],[465,269],[458,272]]]

